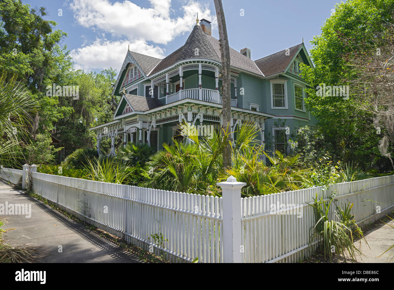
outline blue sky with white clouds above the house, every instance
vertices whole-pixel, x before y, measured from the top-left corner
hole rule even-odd
[[[22,0],[32,8],[46,7],[46,19],[58,23],[68,37],[75,67],[119,71],[127,46],[139,53],[163,58],[186,41],[196,13],[212,21],[219,38],[213,0]],[[338,0],[223,0],[230,46],[248,47],[252,59],[262,58],[320,34]],[[59,9],[62,16],[59,16]],[[244,16],[241,16],[243,9]]]

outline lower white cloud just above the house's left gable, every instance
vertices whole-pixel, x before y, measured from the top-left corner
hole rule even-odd
[[[130,50],[132,51],[155,58],[164,57],[162,48],[149,45],[143,39],[131,42],[127,40],[110,41],[107,39],[96,39],[90,45],[84,45],[80,48],[71,50],[70,54],[74,59],[75,69],[91,71],[112,67],[119,72],[126,57],[129,44]]]

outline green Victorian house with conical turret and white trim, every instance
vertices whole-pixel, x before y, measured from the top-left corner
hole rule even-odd
[[[316,119],[304,105],[308,84],[299,76],[299,63],[312,66],[303,43],[265,58],[251,60],[251,51],[230,48],[232,141],[238,126],[252,122],[266,151],[286,150],[286,141]],[[148,143],[182,139],[180,125],[198,126],[200,133],[222,123],[219,40],[208,20],[197,19],[186,43],[164,59],[128,50],[113,95],[121,96],[113,121],[90,128],[102,138]]]

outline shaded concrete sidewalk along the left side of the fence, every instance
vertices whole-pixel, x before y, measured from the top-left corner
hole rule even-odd
[[[40,262],[49,263],[140,263],[137,255],[86,229],[49,206],[14,190],[0,181],[0,204],[31,204],[31,217],[1,215],[5,218],[2,234],[9,245],[33,244],[45,250]],[[4,221],[4,220],[3,220]],[[59,253],[59,245],[62,253]]]

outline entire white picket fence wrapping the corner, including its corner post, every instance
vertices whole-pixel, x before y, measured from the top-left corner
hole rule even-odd
[[[15,181],[7,170],[0,176]],[[314,215],[307,203],[316,193],[327,199],[335,192],[338,205],[353,203],[359,225],[394,210],[394,175],[245,199],[232,182],[223,183],[233,191],[223,187],[220,198],[37,172],[32,182],[36,193],[77,217],[172,262],[297,262],[309,254]]]

